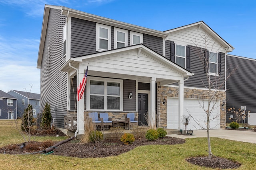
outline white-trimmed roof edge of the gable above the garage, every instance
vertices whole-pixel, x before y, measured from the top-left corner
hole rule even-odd
[[[220,37],[214,30],[212,30],[206,23],[204,23],[204,21],[199,21],[196,23],[191,23],[188,25],[184,25],[182,27],[178,27],[178,28],[174,28],[174,29],[169,29],[167,31],[164,31],[166,33],[174,33],[176,31],[181,31],[183,29],[187,29],[189,27],[194,27],[194,26],[198,26],[198,28],[201,29],[206,29],[206,32],[209,33],[212,37],[214,37],[214,39],[217,39],[224,48],[227,48],[227,53],[233,51],[233,49],[235,49],[234,47],[232,47],[232,45],[230,45],[229,43],[227,43],[222,37]]]

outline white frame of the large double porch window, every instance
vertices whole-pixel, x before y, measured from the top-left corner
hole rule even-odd
[[[96,78],[96,77],[87,77],[88,78],[88,86],[86,86],[86,108],[87,110],[106,110],[106,111],[123,111],[123,80],[120,79],[112,79],[112,78]],[[90,81],[100,81],[104,82],[104,109],[91,109],[90,108]],[[110,110],[107,109],[107,82],[116,82],[120,83],[120,109],[119,110]],[[94,95],[94,94],[93,94]],[[101,96],[101,95],[100,95]]]

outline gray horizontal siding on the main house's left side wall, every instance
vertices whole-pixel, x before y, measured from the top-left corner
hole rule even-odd
[[[48,27],[41,63],[41,113],[46,102],[50,104],[56,127],[64,128],[64,115],[67,113],[67,73],[60,71],[65,63],[62,49],[62,29],[66,16],[60,10],[50,9]],[[55,109],[55,107],[57,109]]]

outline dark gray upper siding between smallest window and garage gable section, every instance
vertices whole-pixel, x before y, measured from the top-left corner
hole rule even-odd
[[[143,34],[143,44],[146,45],[148,48],[156,51],[160,55],[163,55],[163,38]]]

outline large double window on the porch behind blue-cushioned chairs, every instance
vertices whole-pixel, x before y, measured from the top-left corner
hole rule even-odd
[[[89,80],[90,109],[122,110],[122,80]]]

